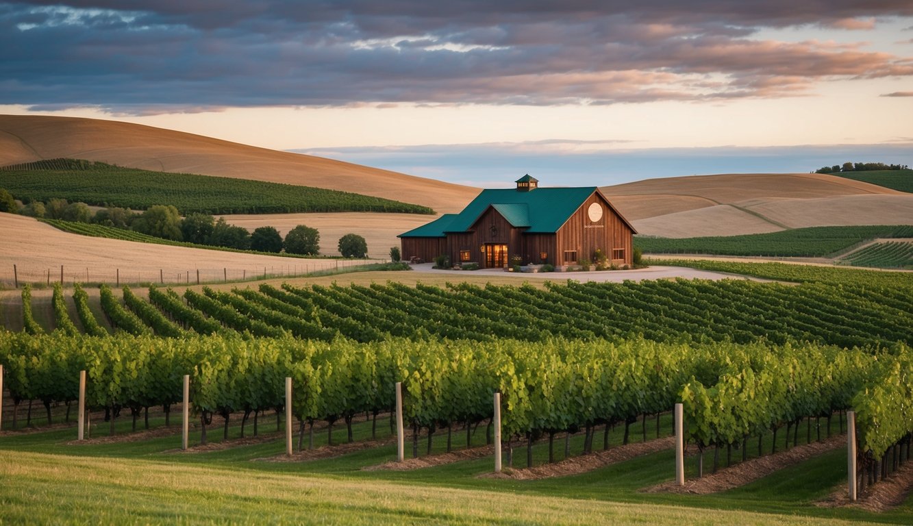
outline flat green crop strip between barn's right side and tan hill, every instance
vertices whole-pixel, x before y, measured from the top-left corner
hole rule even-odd
[[[769,234],[677,239],[637,236],[634,244],[647,254],[823,258],[877,237],[913,237],[913,226],[812,226]]]

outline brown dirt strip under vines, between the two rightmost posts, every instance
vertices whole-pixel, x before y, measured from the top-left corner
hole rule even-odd
[[[839,447],[846,447],[846,436],[831,437],[824,442],[813,442],[804,446],[796,446],[788,451],[781,451],[773,455],[760,458],[751,458],[729,468],[719,469],[716,473],[704,475],[700,479],[686,480],[684,486],[677,486],[675,480],[669,480],[651,488],[645,489],[646,493],[667,491],[670,493],[695,493],[705,495],[717,493],[728,489],[744,486],[749,482],[767,477],[774,471],[794,466],[805,460],[832,451]]]

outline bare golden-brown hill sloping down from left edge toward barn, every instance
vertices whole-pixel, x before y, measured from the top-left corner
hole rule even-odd
[[[458,212],[476,188],[118,121],[0,115],[0,165],[101,161],[145,170],[303,184]]]

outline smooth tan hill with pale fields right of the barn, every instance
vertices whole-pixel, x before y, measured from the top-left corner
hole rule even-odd
[[[602,190],[640,234],[660,237],[913,225],[913,194],[827,174],[667,177]]]

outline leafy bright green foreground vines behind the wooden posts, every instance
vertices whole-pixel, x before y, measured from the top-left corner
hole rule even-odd
[[[530,448],[539,437],[584,430],[584,449],[592,450],[596,426],[628,426],[678,401],[687,439],[700,449],[745,447],[749,437],[768,431],[775,437],[783,426],[788,438],[790,426],[803,418],[853,408],[866,466],[908,443],[913,432],[913,353],[905,345],[850,351],[641,339],[361,344],[6,333],[0,363],[14,404],[40,400],[48,415],[50,405],[76,399],[76,379],[86,370],[90,408],[111,415],[129,408],[134,416],[176,404],[189,373],[194,414],[203,426],[214,415],[280,412],[288,376],[302,428],[343,421],[350,436],[354,416],[392,410],[396,382],[404,384],[404,419],[415,441],[420,430],[433,435],[455,423],[489,420],[495,392],[504,436]]]

